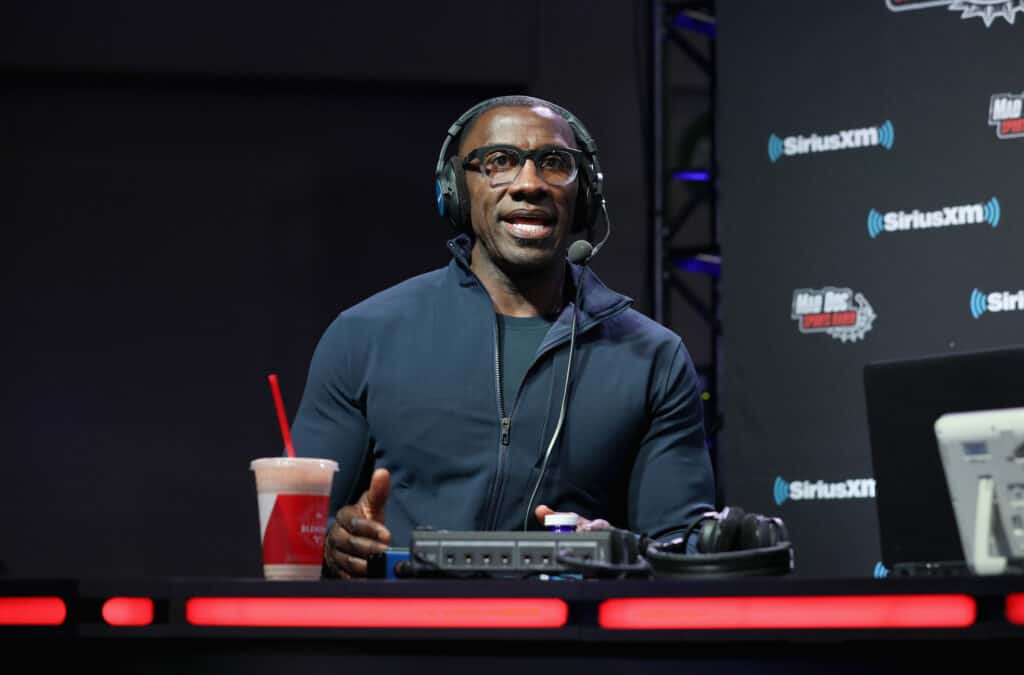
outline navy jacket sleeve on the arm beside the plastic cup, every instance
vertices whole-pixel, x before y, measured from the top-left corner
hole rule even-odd
[[[313,351],[306,387],[292,427],[295,453],[338,462],[331,513],[358,498],[369,482],[373,441],[367,424],[366,360],[344,314]]]

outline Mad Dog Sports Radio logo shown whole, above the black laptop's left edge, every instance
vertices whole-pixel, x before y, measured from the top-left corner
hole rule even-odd
[[[824,333],[840,342],[862,340],[874,310],[861,293],[848,288],[801,288],[793,292],[793,312],[801,333]]]

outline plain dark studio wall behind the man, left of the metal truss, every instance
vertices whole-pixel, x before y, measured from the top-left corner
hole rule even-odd
[[[644,5],[0,9],[6,573],[258,575],[266,374],[294,414],[338,311],[446,262],[431,171],[479,99],[584,120],[594,267],[646,310]]]

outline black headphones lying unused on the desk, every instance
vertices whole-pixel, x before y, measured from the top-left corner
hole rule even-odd
[[[696,554],[686,543],[696,532]],[[697,518],[683,537],[652,543],[645,553],[657,577],[785,575],[793,571],[793,544],[781,518],[727,506]]]

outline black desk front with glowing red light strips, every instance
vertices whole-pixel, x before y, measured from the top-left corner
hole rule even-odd
[[[973,675],[1020,668],[1024,578],[3,580],[0,624],[33,670]]]

